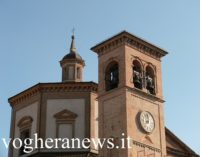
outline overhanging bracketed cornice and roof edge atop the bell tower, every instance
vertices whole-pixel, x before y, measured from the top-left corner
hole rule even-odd
[[[121,46],[130,46],[141,53],[149,55],[157,60],[168,54],[165,50],[155,46],[127,31],[123,31],[99,44],[92,47],[91,50],[96,52],[99,56]]]

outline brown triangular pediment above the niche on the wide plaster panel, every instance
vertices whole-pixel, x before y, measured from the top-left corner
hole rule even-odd
[[[54,117],[56,119],[70,119],[70,120],[74,120],[76,117],[77,117],[77,114],[70,111],[70,110],[67,110],[67,109],[64,109],[58,113],[56,113],[54,115]]]

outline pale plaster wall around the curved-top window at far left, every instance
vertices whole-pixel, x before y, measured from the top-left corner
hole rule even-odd
[[[32,127],[31,127],[31,138],[33,138],[33,134],[37,132],[37,112],[38,112],[38,102],[28,105],[27,107],[22,108],[16,112],[15,117],[15,132],[14,138],[20,137],[20,131],[17,126],[18,122],[25,116],[30,116],[33,118]],[[13,157],[18,157],[19,150],[13,150]]]

